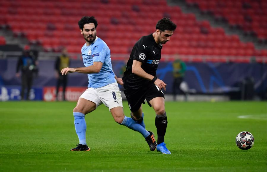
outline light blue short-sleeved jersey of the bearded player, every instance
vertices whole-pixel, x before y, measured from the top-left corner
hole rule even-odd
[[[96,37],[90,46],[86,46],[86,43],[82,46],[82,60],[86,67],[93,65],[95,61],[103,63],[99,73],[87,74],[89,80],[88,88],[100,88],[116,82],[115,74],[112,70],[109,47],[100,38]]]

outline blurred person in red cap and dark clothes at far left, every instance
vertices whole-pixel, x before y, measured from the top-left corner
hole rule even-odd
[[[21,69],[21,74],[19,70]],[[29,100],[30,90],[33,82],[34,74],[37,75],[38,68],[36,61],[30,52],[30,46],[26,45],[23,49],[23,54],[19,57],[16,77],[21,75],[21,100],[24,100],[25,89],[27,88],[26,100]]]

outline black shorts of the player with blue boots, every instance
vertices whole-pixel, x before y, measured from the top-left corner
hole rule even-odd
[[[132,112],[138,111],[141,107],[142,103],[144,103],[144,99],[147,100],[147,104],[151,107],[149,103],[150,100],[156,97],[163,97],[163,91],[160,90],[154,83],[148,82],[142,88],[138,90],[134,89],[125,89],[124,94],[127,98],[129,108]]]

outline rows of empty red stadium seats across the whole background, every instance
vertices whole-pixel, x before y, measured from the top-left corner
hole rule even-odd
[[[253,30],[259,38],[266,38],[264,1],[244,0],[251,5],[248,10],[244,10],[243,0],[187,2],[225,17],[229,24]],[[261,4],[257,6],[256,2]],[[253,43],[241,42],[237,35],[226,35],[223,28],[211,27],[209,21],[197,21],[195,14],[185,14],[178,6],[168,6],[163,0],[88,0],[87,3],[85,7],[81,0],[0,1],[4,14],[0,24],[8,25],[15,35],[25,35],[31,43],[39,43],[45,51],[59,52],[65,46],[69,52],[80,53],[84,40],[77,22],[83,15],[94,15],[99,23],[98,37],[109,45],[112,53],[127,54],[142,35],[154,32],[160,18],[169,17],[177,24],[177,30],[171,43],[164,45],[162,54],[234,56],[234,61],[241,59],[243,62],[249,60],[242,60],[240,56],[267,56],[266,49],[257,50]],[[238,8],[234,8],[236,4]],[[262,9],[260,12],[256,11],[258,7]],[[231,12],[238,15],[231,15]],[[243,15],[252,19],[251,24],[247,24]],[[215,57],[211,61],[224,62],[225,59]]]

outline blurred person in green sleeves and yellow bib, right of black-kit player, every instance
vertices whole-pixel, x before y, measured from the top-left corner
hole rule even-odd
[[[182,93],[183,95],[185,95],[185,100],[187,100],[187,94],[180,88],[180,85],[185,77],[185,71],[186,71],[185,62],[183,62],[181,59],[177,59],[173,62],[172,66],[173,66],[173,84],[172,84],[173,100],[176,101],[177,90],[179,90],[178,93]]]

